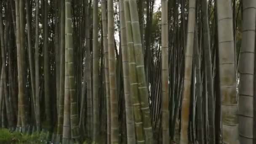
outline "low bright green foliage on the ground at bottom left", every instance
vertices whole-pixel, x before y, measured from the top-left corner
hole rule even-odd
[[[0,129],[0,144],[45,144],[45,133],[31,135],[19,132],[11,133],[8,129]]]

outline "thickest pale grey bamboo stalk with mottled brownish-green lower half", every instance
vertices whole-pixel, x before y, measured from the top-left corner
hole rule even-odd
[[[235,48],[231,0],[217,0],[221,120],[224,144],[239,144]]]

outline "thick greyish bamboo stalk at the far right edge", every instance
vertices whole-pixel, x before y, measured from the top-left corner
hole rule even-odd
[[[256,1],[243,0],[243,39],[240,51],[239,137],[241,144],[253,144],[253,77],[255,63]]]

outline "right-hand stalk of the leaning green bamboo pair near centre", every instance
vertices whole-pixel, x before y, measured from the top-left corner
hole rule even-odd
[[[129,0],[129,5],[131,11],[131,26],[132,26],[132,35],[133,35],[133,46],[134,46],[134,55],[136,61],[136,72],[138,78],[138,89],[139,96],[141,100],[141,111],[143,114],[143,128],[145,133],[145,142],[146,144],[153,143],[153,132],[151,125],[151,116],[149,111],[149,94],[146,83],[145,69],[144,69],[144,57],[142,54],[142,45],[141,45],[141,33],[139,27],[139,15],[138,7],[136,0]]]

